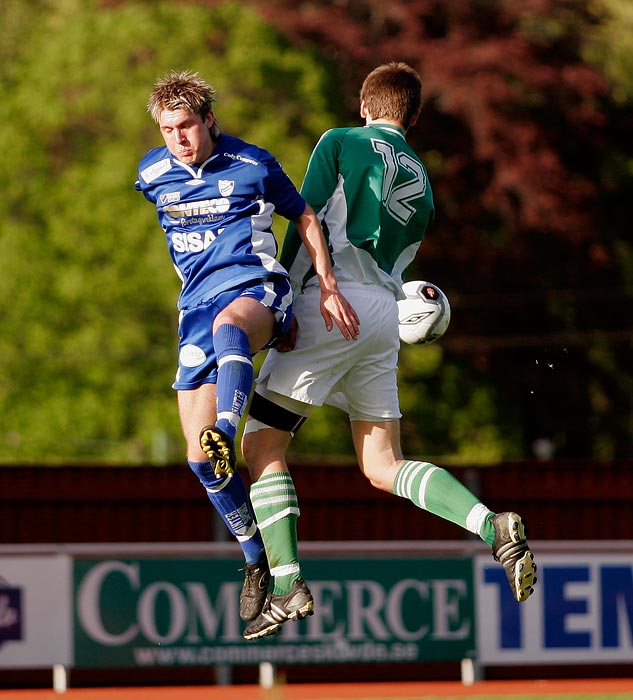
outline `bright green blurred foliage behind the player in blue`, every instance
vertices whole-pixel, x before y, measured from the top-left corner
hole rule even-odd
[[[199,71],[223,128],[298,179],[330,121],[328,76],[236,3],[4,5],[0,460],[179,460],[179,282],[133,188],[160,143],[147,97],[167,71]]]

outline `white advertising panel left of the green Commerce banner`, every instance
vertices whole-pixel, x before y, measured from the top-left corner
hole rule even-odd
[[[71,563],[0,556],[0,668],[72,665]]]

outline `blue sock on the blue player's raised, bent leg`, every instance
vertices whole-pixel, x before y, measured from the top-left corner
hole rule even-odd
[[[218,358],[216,426],[235,439],[253,388],[253,359],[246,333],[225,323],[213,334]]]

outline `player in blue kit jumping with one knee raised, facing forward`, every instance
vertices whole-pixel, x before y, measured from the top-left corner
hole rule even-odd
[[[264,604],[270,572],[234,440],[253,385],[252,356],[288,332],[292,291],[277,262],[276,212],[292,221],[312,259],[327,330],[358,334],[339,292],[319,221],[266,150],[221,132],[214,88],[197,73],[154,85],[148,111],[165,146],[139,165],[136,189],[156,206],[180,279],[179,354],[173,388],[189,467],[242,547],[240,616]]]

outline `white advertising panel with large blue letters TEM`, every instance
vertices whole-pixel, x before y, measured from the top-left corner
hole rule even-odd
[[[537,564],[533,595],[517,603],[503,568],[475,558],[478,661],[633,661],[633,553],[537,553]]]

